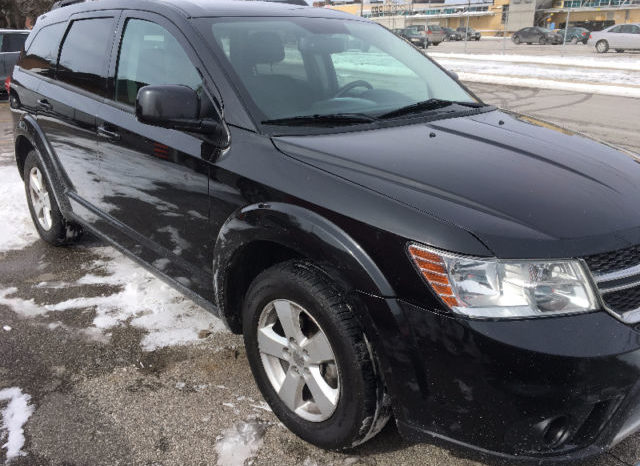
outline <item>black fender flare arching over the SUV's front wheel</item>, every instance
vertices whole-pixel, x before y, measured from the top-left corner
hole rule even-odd
[[[330,267],[345,291],[378,297],[394,296],[382,271],[343,229],[316,212],[293,204],[259,203],[235,211],[224,223],[214,248],[214,292],[219,316],[234,331],[241,330],[237,309],[226,302],[228,276],[234,258],[245,246],[267,241]],[[336,273],[334,276],[333,273]]]

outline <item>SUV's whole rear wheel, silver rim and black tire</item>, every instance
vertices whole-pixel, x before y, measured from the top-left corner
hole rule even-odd
[[[29,212],[40,238],[54,246],[76,241],[82,235],[82,228],[62,216],[51,182],[35,151],[27,155],[23,173]]]

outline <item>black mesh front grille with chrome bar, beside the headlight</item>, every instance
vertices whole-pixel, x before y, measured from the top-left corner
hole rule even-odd
[[[584,258],[607,309],[627,323],[640,322],[640,246]]]

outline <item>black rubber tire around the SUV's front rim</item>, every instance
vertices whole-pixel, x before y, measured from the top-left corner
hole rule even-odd
[[[333,413],[326,420],[309,421],[287,407],[266,373],[258,331],[261,315],[266,312],[263,310],[276,300],[301,306],[315,321],[311,325],[324,332],[333,350],[340,380],[339,395]],[[293,433],[320,448],[344,450],[367,441],[384,427],[390,417],[390,405],[383,383],[376,376],[366,337],[343,293],[320,268],[306,261],[289,261],[262,272],[249,287],[242,312],[247,358],[256,383],[274,414]],[[292,362],[285,369],[287,374],[291,366],[297,373]],[[304,389],[309,387],[304,385],[303,394]]]

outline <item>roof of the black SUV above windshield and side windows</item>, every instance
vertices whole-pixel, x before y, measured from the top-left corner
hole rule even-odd
[[[160,12],[162,8],[178,10],[190,18],[197,17],[263,17],[263,16],[299,16],[314,18],[343,18],[364,20],[328,8],[313,8],[283,2],[243,1],[243,0],[90,0],[60,7],[44,16],[69,16],[69,14],[96,10],[147,10]]]

